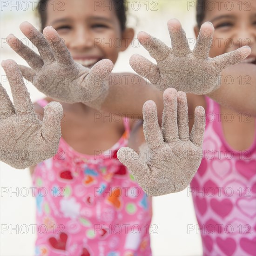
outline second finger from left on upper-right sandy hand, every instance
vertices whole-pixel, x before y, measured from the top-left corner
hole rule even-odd
[[[147,34],[146,32],[140,32],[138,34],[138,39],[141,45],[148,51],[150,56],[156,61],[165,60],[171,51],[170,48],[161,40]]]

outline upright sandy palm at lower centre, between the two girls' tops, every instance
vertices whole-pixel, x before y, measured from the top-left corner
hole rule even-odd
[[[154,101],[143,106],[143,129],[148,151],[143,161],[131,148],[120,148],[118,159],[132,172],[148,195],[166,195],[185,189],[202,160],[205,113],[195,109],[195,124],[189,135],[186,94],[168,88],[163,94],[162,131]]]

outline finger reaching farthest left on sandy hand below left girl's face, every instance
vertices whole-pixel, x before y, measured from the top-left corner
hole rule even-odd
[[[27,61],[27,64],[35,71],[38,71],[44,65],[42,58],[32,49],[24,45],[13,34],[9,34],[7,36],[7,43],[17,54],[20,55],[21,58]]]

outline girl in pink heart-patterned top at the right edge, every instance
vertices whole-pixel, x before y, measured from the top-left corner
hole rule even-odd
[[[232,3],[231,10],[209,10],[207,0],[197,3],[195,35],[202,22],[211,21],[213,40],[222,39],[211,48],[210,57],[251,47],[245,61],[222,72],[221,87],[208,95],[215,101],[192,96],[191,103],[202,104],[209,115],[205,155],[191,182],[204,255],[256,255],[256,3]],[[234,79],[232,84],[225,79],[228,76]]]

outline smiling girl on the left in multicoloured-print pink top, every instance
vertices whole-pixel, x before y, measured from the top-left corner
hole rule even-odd
[[[102,44],[94,47],[94,38],[117,38],[123,42],[133,39],[133,30],[125,27],[123,1],[119,1],[121,7],[116,10],[95,10],[94,1],[65,1],[64,10],[60,11],[50,8],[51,1],[40,1],[39,6],[42,2],[48,6],[41,11],[42,26],[52,25],[74,60],[85,67],[101,59],[115,63],[118,53],[128,47],[127,43],[120,48]],[[112,0],[108,4],[112,5]],[[27,27],[25,24],[24,30]],[[35,44],[36,40],[34,37]],[[35,65],[40,66],[36,61]],[[57,78],[58,74],[52,71]],[[57,88],[58,83],[54,85]],[[75,88],[75,81],[70,85]],[[98,96],[92,95],[91,99]],[[51,101],[38,101],[35,111],[42,114]],[[47,227],[46,233],[37,229],[36,255],[151,255],[151,198],[116,156],[118,149],[127,145],[135,122],[128,118],[113,121],[111,115],[95,119],[101,113],[83,103],[61,105],[64,118],[58,153],[31,168],[37,187],[37,227]],[[41,193],[43,190],[47,196]]]

